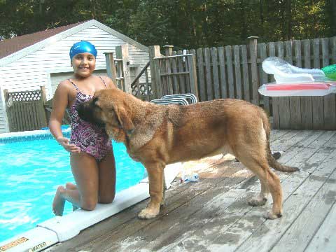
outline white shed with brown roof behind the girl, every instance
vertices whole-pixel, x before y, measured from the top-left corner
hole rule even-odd
[[[142,69],[149,61],[148,48],[97,20],[38,31],[0,41],[0,133],[9,132],[3,90],[8,92],[39,90],[45,87],[51,99],[60,80],[69,78],[69,49],[80,40],[97,48],[96,74],[106,75],[104,52],[116,52],[116,46],[128,44],[131,65]],[[135,73],[131,73],[131,76]]]

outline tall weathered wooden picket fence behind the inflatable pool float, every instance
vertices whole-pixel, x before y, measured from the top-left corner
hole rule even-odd
[[[336,64],[336,37],[275,43],[258,43],[257,37],[250,37],[248,45],[199,48],[184,53],[196,57],[200,101],[244,99],[262,106],[272,116],[275,129],[336,130],[335,94],[272,98],[258,93],[260,85],[274,81],[272,76],[262,71],[262,61],[266,57],[281,57],[298,67],[319,69]],[[182,54],[182,51],[172,52],[172,55]],[[163,85],[165,88],[165,85],[174,83],[176,77],[169,78],[165,83],[157,81],[155,86]]]

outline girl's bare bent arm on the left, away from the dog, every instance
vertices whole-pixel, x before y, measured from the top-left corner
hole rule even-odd
[[[49,129],[51,134],[55,137],[56,141],[60,145],[62,145],[66,149],[66,151],[80,152],[78,146],[75,146],[74,144],[69,144],[69,139],[63,137],[63,133],[61,130],[62,120],[69,102],[68,94],[69,87],[66,85],[66,83],[59,83],[52,100],[52,111],[49,120]]]

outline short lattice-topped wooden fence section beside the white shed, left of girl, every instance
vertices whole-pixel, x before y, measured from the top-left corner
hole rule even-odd
[[[10,132],[41,130],[47,126],[45,87],[41,90],[8,92],[3,90]]]

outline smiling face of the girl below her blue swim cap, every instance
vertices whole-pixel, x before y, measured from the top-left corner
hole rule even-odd
[[[71,59],[71,66],[75,76],[89,77],[96,67],[96,58],[88,52],[78,53]]]

